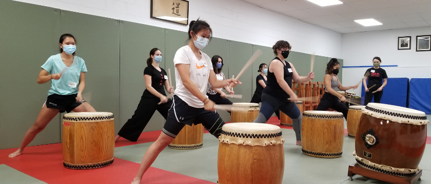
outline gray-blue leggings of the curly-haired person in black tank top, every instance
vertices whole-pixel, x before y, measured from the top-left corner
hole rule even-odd
[[[280,109],[280,111],[292,119],[292,127],[295,131],[296,139],[297,141],[301,141],[302,114],[298,106],[287,99],[281,101],[265,92],[262,93],[262,107],[260,108],[258,118],[253,123],[266,123],[277,109]]]

